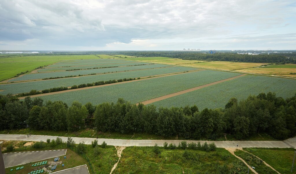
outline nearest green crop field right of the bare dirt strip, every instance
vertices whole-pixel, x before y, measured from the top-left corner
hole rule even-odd
[[[276,92],[277,96],[292,97],[296,93],[296,80],[276,77],[246,75],[182,95],[160,100],[157,106],[197,105],[198,108],[224,108],[231,97],[238,100],[261,92]]]

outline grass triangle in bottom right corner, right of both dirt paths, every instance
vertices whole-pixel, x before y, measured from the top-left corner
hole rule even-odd
[[[279,173],[292,173],[291,167],[294,157],[293,148],[243,148],[271,165]],[[296,173],[294,165],[293,173]]]

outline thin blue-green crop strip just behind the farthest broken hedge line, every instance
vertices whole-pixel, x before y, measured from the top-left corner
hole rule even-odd
[[[123,63],[103,63],[99,65],[90,65],[90,66],[70,66],[70,67],[59,67],[59,68],[42,68],[38,69],[37,72],[49,72],[49,71],[65,71],[71,69],[88,69],[88,68],[102,68],[102,67],[111,67],[111,66],[133,66],[133,65],[147,65],[152,63],[144,62],[123,62]]]

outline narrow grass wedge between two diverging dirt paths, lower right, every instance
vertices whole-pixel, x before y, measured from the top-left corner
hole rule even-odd
[[[236,150],[234,154],[241,157],[248,165],[255,167],[254,170],[258,173],[277,174],[276,171],[266,166],[262,160],[248,152]]]

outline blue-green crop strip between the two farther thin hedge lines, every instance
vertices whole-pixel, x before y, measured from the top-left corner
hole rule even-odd
[[[11,79],[9,81],[20,81],[20,80],[32,80],[32,79],[43,79],[49,77],[65,77],[70,75],[84,75],[93,73],[108,73],[116,71],[129,71],[136,69],[150,69],[150,68],[160,68],[167,67],[169,65],[152,64],[152,65],[140,65],[140,66],[124,66],[115,68],[101,68],[101,69],[86,69],[86,70],[76,70],[76,71],[59,71],[59,72],[48,72],[48,73],[36,73],[36,74],[25,74],[24,76]]]

